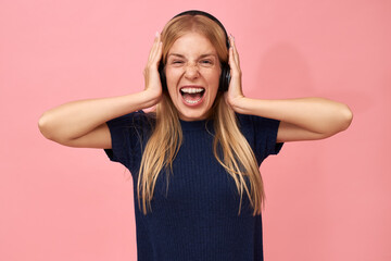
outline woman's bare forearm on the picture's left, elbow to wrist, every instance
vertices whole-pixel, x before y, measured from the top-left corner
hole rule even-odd
[[[76,139],[109,120],[152,107],[156,99],[144,90],[119,97],[72,101],[46,111],[38,126],[48,139]]]

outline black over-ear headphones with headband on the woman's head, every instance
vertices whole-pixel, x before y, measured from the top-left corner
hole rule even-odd
[[[189,10],[189,11],[185,11],[185,12],[181,12],[181,13],[175,15],[173,18],[182,16],[182,15],[192,15],[192,16],[203,15],[203,16],[206,16],[210,20],[214,21],[223,29],[223,32],[226,36],[227,50],[229,50],[230,45],[229,45],[228,34],[227,34],[226,29],[224,28],[223,24],[215,16],[213,16],[210,13],[203,12],[203,11]],[[226,90],[228,90],[229,80],[230,80],[230,67],[229,67],[228,62],[223,62],[220,65],[222,65],[222,74],[220,74],[220,78],[219,78],[218,90],[226,91]],[[164,64],[162,61],[159,64],[159,73],[160,73],[160,77],[161,77],[161,82],[162,82],[162,87],[164,90],[166,90],[167,89],[167,80],[166,80],[166,77],[164,74]]]

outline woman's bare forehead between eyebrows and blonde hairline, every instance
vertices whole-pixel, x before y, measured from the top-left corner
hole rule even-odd
[[[202,55],[205,53],[216,54],[217,51],[212,42],[200,33],[190,32],[179,37],[168,50],[171,53],[188,55]]]

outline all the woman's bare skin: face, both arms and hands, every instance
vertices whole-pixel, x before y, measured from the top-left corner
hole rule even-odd
[[[197,42],[192,45],[189,39]],[[229,66],[231,80],[225,92],[226,102],[234,111],[280,121],[277,141],[313,140],[330,137],[349,127],[353,113],[346,104],[325,98],[299,98],[285,100],[252,99],[243,95],[239,53],[230,37]],[[187,48],[186,48],[187,47]],[[190,48],[191,47],[191,48]],[[219,65],[205,67],[202,54],[213,53],[211,42],[201,35],[186,34],[169,50],[179,52],[185,65],[167,65],[166,78],[169,95],[181,119],[202,120],[207,116],[218,86]],[[175,51],[175,52],[174,52]],[[214,50],[215,51],[215,50]],[[162,42],[156,34],[143,72],[144,90],[118,97],[78,100],[46,111],[38,126],[42,135],[64,146],[78,148],[112,148],[111,135],[105,122],[156,104],[162,98],[159,63]],[[200,107],[182,103],[178,89],[186,84],[205,88],[205,100]]]

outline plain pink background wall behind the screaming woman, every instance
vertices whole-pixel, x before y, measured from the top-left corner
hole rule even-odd
[[[261,167],[267,261],[391,260],[388,0],[0,2],[0,260],[136,260],[129,173],[45,139],[61,103],[143,88],[154,33],[201,9],[236,37],[250,97],[348,103],[344,133]]]

